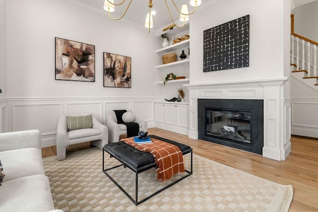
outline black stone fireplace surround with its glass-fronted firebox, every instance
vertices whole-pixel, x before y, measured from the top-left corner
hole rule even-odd
[[[198,99],[199,139],[262,154],[263,100]]]

